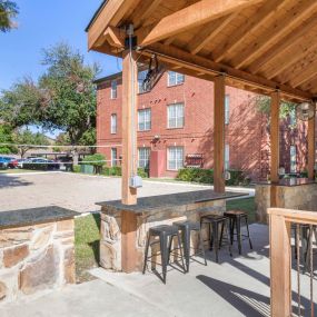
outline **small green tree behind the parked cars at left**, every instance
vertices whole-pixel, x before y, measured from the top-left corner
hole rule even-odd
[[[47,137],[40,132],[33,133],[30,130],[17,130],[13,136],[14,143],[18,145],[19,153],[21,158],[24,157],[28,150],[32,148],[32,146],[48,146],[49,141]]]

